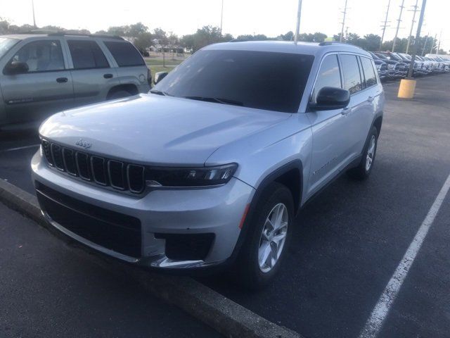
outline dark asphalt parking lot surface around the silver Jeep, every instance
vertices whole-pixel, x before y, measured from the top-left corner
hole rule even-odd
[[[340,177],[305,206],[274,284],[250,293],[232,276],[200,281],[304,337],[359,337],[450,174],[449,84],[450,75],[420,78],[411,101],[397,99],[398,82],[385,84],[371,178]],[[32,192],[29,162],[37,143],[32,132],[0,135],[0,178]],[[0,215],[6,337],[214,336],[127,276],[117,279],[91,265],[89,255],[74,256],[30,220],[2,205]],[[449,337],[449,220],[447,196],[378,337]]]

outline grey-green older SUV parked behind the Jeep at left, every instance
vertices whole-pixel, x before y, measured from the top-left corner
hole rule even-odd
[[[151,75],[121,37],[63,33],[0,36],[0,128],[145,93]]]

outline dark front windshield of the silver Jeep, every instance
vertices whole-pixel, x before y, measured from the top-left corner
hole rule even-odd
[[[314,56],[266,51],[198,51],[152,92],[218,104],[297,113]]]

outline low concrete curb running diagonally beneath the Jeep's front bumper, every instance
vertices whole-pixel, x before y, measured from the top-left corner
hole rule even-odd
[[[52,233],[55,232],[53,227],[44,221],[37,199],[32,194],[0,180],[0,201]],[[101,259],[98,261],[103,265],[106,263]],[[139,282],[153,296],[182,308],[225,337],[302,337],[297,332],[271,323],[190,277],[163,275],[125,264],[116,264],[114,268]]]

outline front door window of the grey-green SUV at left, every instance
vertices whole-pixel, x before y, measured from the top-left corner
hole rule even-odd
[[[63,51],[58,40],[41,40],[25,44],[10,62],[24,62],[28,73],[64,69]]]

